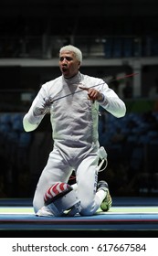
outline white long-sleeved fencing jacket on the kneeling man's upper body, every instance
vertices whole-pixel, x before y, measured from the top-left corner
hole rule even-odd
[[[94,88],[103,94],[103,101],[90,101],[87,91],[79,85]],[[117,118],[125,115],[126,107],[118,95],[101,79],[81,74],[71,79],[62,75],[42,85],[37,97],[23,119],[26,132],[33,131],[42,121],[44,114],[35,116],[35,107],[41,107],[45,98],[51,97],[50,121],[54,143],[71,148],[96,144],[99,140],[99,106]]]

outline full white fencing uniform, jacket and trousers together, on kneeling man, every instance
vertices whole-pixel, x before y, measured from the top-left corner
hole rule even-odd
[[[54,148],[37,184],[33,202],[35,212],[44,205],[47,188],[58,181],[67,183],[73,170],[76,172],[81,214],[92,215],[100,208],[101,200],[96,194],[99,102],[88,100],[87,91],[81,91],[79,85],[100,91],[104,96],[100,105],[112,115],[119,118],[126,112],[124,102],[103,80],[80,72],[71,79],[60,76],[41,87],[23,120],[26,132],[35,130],[44,114],[35,116],[33,110],[41,106],[43,99],[51,97]]]

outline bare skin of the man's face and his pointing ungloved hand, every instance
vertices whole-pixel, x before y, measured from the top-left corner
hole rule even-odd
[[[76,76],[79,72],[80,61],[72,51],[62,51],[59,54],[59,69],[64,78],[70,79]],[[88,99],[90,101],[101,101],[102,94],[94,88],[85,88],[81,85],[80,89],[88,91]]]

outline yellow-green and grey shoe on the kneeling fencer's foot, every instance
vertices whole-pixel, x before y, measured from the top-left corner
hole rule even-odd
[[[99,183],[98,183],[98,191],[100,189],[107,192],[106,197],[103,199],[103,201],[100,205],[100,208],[103,211],[108,211],[111,208],[111,205],[112,205],[112,199],[111,199],[108,183],[104,180],[100,180]]]

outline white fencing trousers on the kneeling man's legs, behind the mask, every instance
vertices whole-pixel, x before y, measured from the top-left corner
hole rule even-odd
[[[33,207],[37,213],[44,206],[44,195],[49,187],[56,182],[68,183],[72,171],[76,172],[78,185],[77,194],[81,204],[81,215],[93,215],[104,197],[99,197],[97,191],[99,155],[98,146],[92,145],[89,150],[59,149],[54,146],[49,154],[47,165],[39,177],[33,200]],[[101,191],[102,192],[102,191]]]

